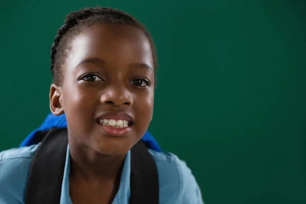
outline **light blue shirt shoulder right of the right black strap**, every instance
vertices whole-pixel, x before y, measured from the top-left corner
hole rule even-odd
[[[199,186],[186,162],[170,152],[151,149],[149,152],[159,174],[160,203],[203,203]]]

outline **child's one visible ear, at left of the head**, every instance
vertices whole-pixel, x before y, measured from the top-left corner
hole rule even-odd
[[[50,86],[49,100],[50,100],[50,111],[52,112],[53,115],[64,114],[64,109],[62,106],[61,87],[55,84],[52,84]]]

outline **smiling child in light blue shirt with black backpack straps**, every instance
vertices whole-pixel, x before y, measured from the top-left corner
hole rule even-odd
[[[50,110],[67,128],[0,153],[0,203],[203,203],[183,161],[141,142],[157,58],[140,22],[103,7],[72,12],[51,60]]]

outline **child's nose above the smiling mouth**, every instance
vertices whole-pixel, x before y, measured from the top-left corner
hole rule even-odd
[[[133,97],[129,90],[120,86],[108,87],[100,97],[101,103],[115,107],[131,106]]]

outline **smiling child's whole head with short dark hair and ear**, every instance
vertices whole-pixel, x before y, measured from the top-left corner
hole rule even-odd
[[[124,155],[153,114],[157,68],[149,32],[122,11],[72,12],[51,48],[50,110],[66,115],[70,140],[104,155]]]

